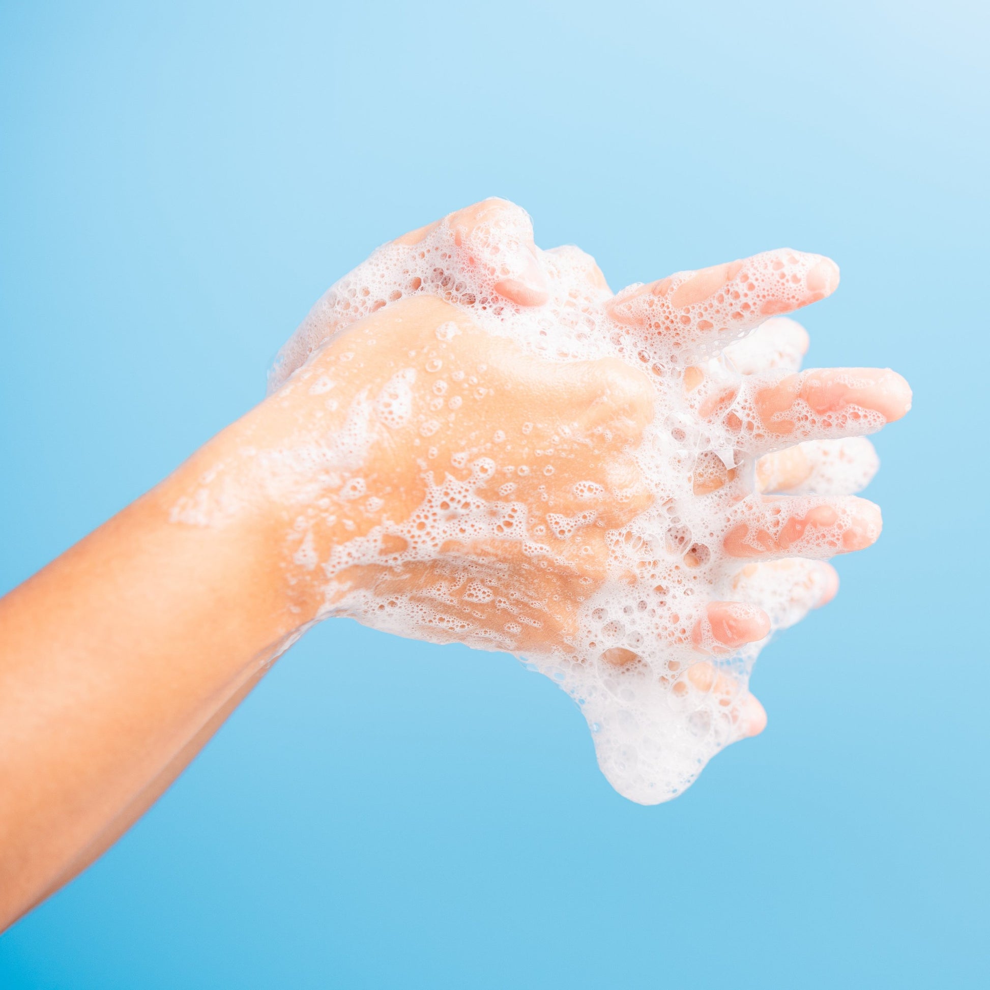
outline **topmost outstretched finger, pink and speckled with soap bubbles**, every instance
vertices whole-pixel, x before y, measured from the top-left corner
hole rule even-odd
[[[674,351],[704,353],[769,316],[824,299],[838,285],[835,261],[784,248],[624,290],[608,311],[618,323],[661,335]]]

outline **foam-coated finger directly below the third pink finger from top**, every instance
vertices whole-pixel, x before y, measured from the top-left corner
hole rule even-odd
[[[746,564],[733,578],[733,593],[762,609],[773,629],[788,629],[839,592],[839,574],[825,560],[785,557]]]

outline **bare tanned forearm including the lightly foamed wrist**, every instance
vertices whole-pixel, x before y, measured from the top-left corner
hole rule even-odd
[[[0,600],[0,928],[116,841],[316,617],[299,520],[333,505],[327,552],[374,525],[322,459],[364,387],[314,410],[290,384]]]

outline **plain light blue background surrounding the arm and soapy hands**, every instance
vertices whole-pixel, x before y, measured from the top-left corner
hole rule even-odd
[[[328,623],[0,986],[986,979],[987,48],[975,2],[4,3],[0,589],[257,401],[372,247],[487,195],[614,286],[829,253],[811,363],[915,408],[882,541],[685,796],[613,793],[505,655]]]

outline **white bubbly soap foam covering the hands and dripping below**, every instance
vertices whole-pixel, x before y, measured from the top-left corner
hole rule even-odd
[[[540,609],[528,606],[522,590],[517,597],[504,593],[507,565],[499,571],[490,558],[464,552],[451,556],[442,548],[471,541],[513,545],[535,566],[541,560],[552,566],[554,541],[579,542],[582,532],[603,525],[599,513],[607,499],[625,496],[621,486],[606,491],[600,481],[580,480],[570,490],[586,509],[534,516],[525,502],[514,500],[513,479],[538,469],[549,478],[552,457],[545,465],[518,464],[511,454],[498,453],[498,435],[504,440],[505,434],[497,431],[491,455],[469,464],[462,458],[454,465],[469,466],[467,480],[431,462],[423,471],[426,496],[408,519],[375,526],[336,545],[329,559],[320,561],[328,586],[324,614],[348,615],[402,636],[457,640],[522,655],[577,701],[612,784],[632,800],[654,804],[680,793],[711,756],[743,735],[748,673],[762,644],[707,661],[729,677],[689,676],[704,659],[692,630],[701,629],[702,646],[714,645],[705,632],[707,604],[749,603],[766,611],[773,629],[782,629],[827,593],[829,572],[814,561],[746,565],[723,545],[728,533],[748,527],[741,545],[758,551],[760,530],[778,533],[787,519],[772,504],[760,507],[754,467],[760,453],[794,441],[767,430],[754,396],[783,372],[796,370],[807,336],[793,321],[776,318],[731,344],[727,355],[719,351],[758,324],[759,314],[780,312],[771,302],[781,295],[781,280],[787,280],[793,296],[789,304],[801,301],[802,292],[807,295],[802,281],[807,256],[796,258],[788,251],[758,255],[741,274],[735,269],[740,291],[734,298],[716,294],[692,301],[704,288],[698,288],[699,279],[709,277],[692,272],[671,276],[649,292],[633,286],[613,298],[596,282],[597,269],[584,252],[532,247],[524,211],[502,204],[490,214],[492,219],[482,218],[466,233],[447,220],[419,243],[376,250],[326,293],[282,348],[270,389],[348,325],[428,293],[469,313],[487,332],[509,337],[548,361],[618,358],[643,371],[650,381],[653,417],[633,456],[652,504],[628,525],[606,533],[608,577],[598,586],[587,582],[587,593],[574,602],[572,631],[559,642],[522,649],[526,630],[543,620],[534,618]],[[509,298],[527,292],[531,301],[548,298],[537,306]],[[443,345],[457,333],[450,321],[437,328],[436,337]],[[703,374],[692,364],[700,365]],[[447,377],[438,377],[448,370],[456,388]],[[420,375],[431,379],[431,411],[415,422],[422,442],[429,444],[441,416],[455,411],[468,394],[467,383],[462,371],[445,367],[441,356],[423,360],[419,355],[377,396],[362,394],[353,402],[333,442],[330,467],[347,463],[351,472],[359,471],[371,419],[385,429],[411,422],[413,387],[419,387]],[[333,398],[334,383],[320,378],[310,391]],[[795,410],[787,415],[795,418]],[[881,425],[882,418],[865,410],[820,416],[805,405],[797,410],[794,436],[862,434]],[[811,441],[807,454],[813,466],[796,490],[802,495],[857,490],[876,466],[864,443]],[[435,451],[431,448],[429,456]],[[360,484],[347,481],[350,487],[342,488],[341,497],[367,494],[357,480]],[[187,511],[198,509],[190,505]],[[840,504],[834,520],[808,527],[790,545],[789,555],[836,552],[849,511]],[[311,543],[303,541],[298,552],[300,566],[315,566]],[[438,560],[445,561],[442,580],[416,593],[403,590],[402,576],[410,567]],[[336,583],[347,568],[372,562],[391,568],[395,580],[387,590],[354,591]],[[489,621],[490,611],[478,610],[481,605],[495,610],[499,624]]]

